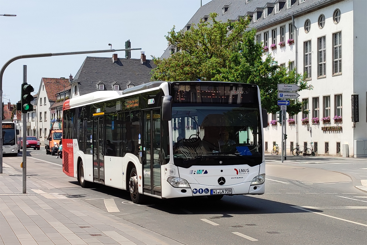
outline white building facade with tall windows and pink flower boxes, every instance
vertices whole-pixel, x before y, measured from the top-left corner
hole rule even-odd
[[[274,16],[282,11],[277,6],[280,2],[284,3],[276,1],[271,9]],[[283,9],[292,8],[292,3],[295,4],[287,0]],[[308,1],[296,3],[306,6]],[[267,8],[262,8],[264,13]],[[278,64],[286,67],[290,64],[290,69],[296,67],[298,73],[307,73],[307,82],[313,86],[312,90],[298,92],[298,99],[305,104],[303,109],[309,113],[287,114],[287,119],[295,121],[286,123],[287,154],[297,143],[303,149],[310,148],[312,142],[319,155],[339,156],[344,149],[345,156],[366,157],[366,11],[367,1],[334,1],[257,28],[257,40],[269,47],[268,52]],[[282,41],[284,46],[280,44]],[[268,116],[269,122],[276,119],[275,115]],[[279,123],[270,124],[264,134],[265,150],[270,152],[273,144],[281,145]]]

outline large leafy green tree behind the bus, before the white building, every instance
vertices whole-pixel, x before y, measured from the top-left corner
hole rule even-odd
[[[260,88],[262,107],[268,112],[279,111],[277,84],[295,83],[300,90],[312,89],[305,76],[288,72],[277,64],[271,55],[263,59],[262,44],[255,42],[256,30],[249,29],[249,19],[238,22],[217,21],[211,13],[207,21],[191,25],[186,32],[168,32],[168,44],[178,52],[169,58],[153,57],[157,68],[152,71],[152,80],[161,81],[221,81],[257,84]],[[293,101],[287,111],[291,115],[301,112],[302,103]]]

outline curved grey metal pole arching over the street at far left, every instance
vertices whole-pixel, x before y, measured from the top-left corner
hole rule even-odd
[[[44,53],[44,54],[25,54],[19,55],[11,58],[6,62],[0,71],[0,98],[3,97],[3,75],[5,69],[12,62],[20,59],[26,58],[39,58],[39,57],[50,57],[50,56],[59,56],[59,55],[73,55],[73,54],[96,54],[96,53],[109,53],[116,51],[130,51],[130,50],[141,50],[141,48],[127,48],[127,49],[107,49],[107,50],[92,50],[92,51],[76,51],[76,52],[66,52],[66,53]],[[3,109],[0,109],[0,125],[3,125]],[[0,127],[0,173],[3,173],[3,127]]]

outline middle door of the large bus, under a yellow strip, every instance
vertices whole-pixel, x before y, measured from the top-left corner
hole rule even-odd
[[[103,123],[103,116],[93,118],[93,179],[102,183],[105,181],[105,129]]]

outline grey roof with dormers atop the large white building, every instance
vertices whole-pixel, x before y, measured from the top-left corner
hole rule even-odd
[[[278,21],[291,19],[292,14],[295,16],[302,15],[303,12],[313,10],[323,5],[334,4],[339,1],[342,0],[305,0],[304,3],[300,4],[299,0],[292,0],[292,7],[287,9],[286,0],[251,0],[248,3],[246,3],[246,0],[212,0],[199,8],[188,21],[188,24],[197,24],[204,15],[208,15],[213,12],[218,14],[216,19],[219,21],[227,21],[228,19],[235,21],[239,19],[239,17],[247,15],[252,16],[252,13],[256,10],[261,11],[264,7],[272,8],[272,5],[275,3],[283,3],[284,7],[279,11],[279,13],[275,14],[274,8],[272,8],[272,12],[264,19],[262,16],[263,14],[259,12],[258,21],[255,23],[251,21],[251,24],[249,25],[250,28],[264,29],[267,25],[275,25]],[[229,8],[225,14],[222,14],[222,8],[225,5],[229,5]],[[172,25],[173,24],[174,23],[172,23]],[[164,51],[160,58],[169,57],[170,47],[171,46],[167,47],[166,51]]]

